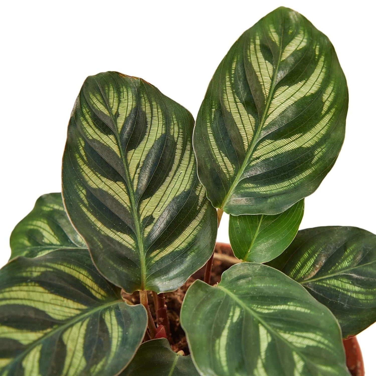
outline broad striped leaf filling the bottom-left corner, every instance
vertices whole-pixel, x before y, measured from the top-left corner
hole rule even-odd
[[[96,270],[88,250],[19,257],[0,271],[0,375],[114,376],[147,324]]]

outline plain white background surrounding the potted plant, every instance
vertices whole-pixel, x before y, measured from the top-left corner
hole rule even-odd
[[[332,41],[347,77],[343,149],[306,199],[301,228],[358,226],[376,233],[374,5],[371,2],[8,1],[2,3],[1,248],[44,193],[61,190],[61,157],[74,100],[86,76],[143,77],[196,117],[215,68],[235,40],[280,5],[299,11]],[[228,242],[224,216],[218,240]],[[376,326],[358,336],[375,374]]]

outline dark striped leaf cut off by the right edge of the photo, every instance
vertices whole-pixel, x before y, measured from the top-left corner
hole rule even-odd
[[[357,227],[300,230],[268,265],[303,285],[337,317],[342,335],[376,321],[376,235]]]

